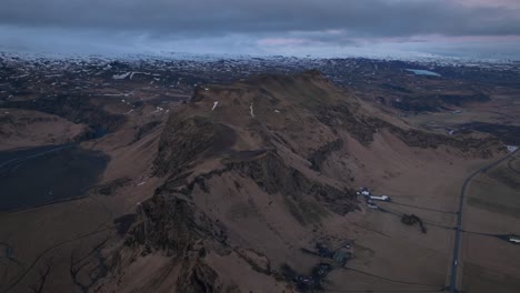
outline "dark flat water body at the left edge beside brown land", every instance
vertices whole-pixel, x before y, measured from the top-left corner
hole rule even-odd
[[[109,156],[77,144],[0,152],[0,211],[82,196]]]

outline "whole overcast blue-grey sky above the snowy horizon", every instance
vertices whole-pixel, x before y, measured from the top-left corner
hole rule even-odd
[[[520,59],[520,0],[1,0],[0,48]]]

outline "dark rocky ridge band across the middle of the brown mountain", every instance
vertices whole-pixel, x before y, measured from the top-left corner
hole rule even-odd
[[[251,180],[268,194],[283,195],[289,211],[302,224],[309,223],[309,219],[319,221],[324,211],[323,208],[340,215],[357,209],[354,190],[341,190],[310,180],[302,172],[288,166],[280,155],[272,151],[254,160],[228,162],[223,169],[198,175],[191,182],[187,182],[183,175],[172,178],[160,190],[190,196],[194,185],[198,185],[204,192],[210,193],[208,182],[213,176],[220,176],[227,172]]]

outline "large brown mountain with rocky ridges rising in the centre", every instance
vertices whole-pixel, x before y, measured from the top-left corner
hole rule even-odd
[[[356,238],[344,220],[364,210],[354,186],[501,151],[416,130],[317,71],[201,87],[170,115],[154,160],[166,183],[139,204],[101,287],[293,291],[293,274],[320,263],[301,247]]]

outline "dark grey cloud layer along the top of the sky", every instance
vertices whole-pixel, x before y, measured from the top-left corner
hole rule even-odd
[[[481,7],[461,0],[0,1],[0,24],[134,31],[158,38],[321,30],[342,30],[352,38],[509,36],[520,34],[519,16],[518,6]]]

